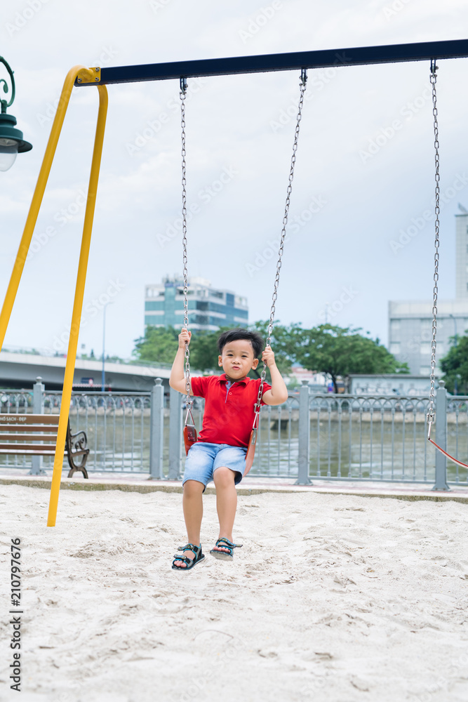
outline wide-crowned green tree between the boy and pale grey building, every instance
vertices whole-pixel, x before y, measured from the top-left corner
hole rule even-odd
[[[349,373],[409,373],[380,340],[359,334],[360,329],[321,324],[312,329],[295,329],[297,360],[305,368],[328,373],[337,392],[337,376]]]

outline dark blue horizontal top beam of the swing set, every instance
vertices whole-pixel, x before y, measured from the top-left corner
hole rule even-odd
[[[302,68],[332,66],[363,66],[377,63],[424,61],[432,58],[467,58],[468,39],[424,41],[418,44],[389,44],[388,46],[358,46],[356,48],[326,49],[271,53],[259,56],[208,58],[196,61],[147,63],[140,66],[117,66],[101,69],[100,84],[166,81],[181,77],[229,76],[245,73],[293,71]],[[95,83],[76,84],[76,86]]]

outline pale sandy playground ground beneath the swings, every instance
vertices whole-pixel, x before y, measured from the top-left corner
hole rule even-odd
[[[467,505],[239,496],[234,562],[171,570],[182,496],[0,486],[1,639],[22,541],[22,702],[466,702]]]

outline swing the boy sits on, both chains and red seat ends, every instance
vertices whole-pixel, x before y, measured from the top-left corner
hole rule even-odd
[[[293,155],[291,157],[289,178],[288,178],[288,187],[286,190],[286,204],[284,206],[283,227],[281,230],[281,240],[280,240],[280,244],[279,244],[278,261],[276,263],[276,275],[275,275],[275,279],[274,279],[272,308],[270,310],[270,315],[269,315],[268,337],[267,337],[266,347],[269,347],[271,345],[271,340],[272,340],[275,305],[276,305],[276,299],[278,298],[278,286],[279,286],[279,274],[280,274],[280,270],[281,270],[281,258],[283,256],[284,239],[286,237],[286,225],[288,224],[290,195],[291,195],[291,192],[293,190],[294,166],[295,166],[296,152],[297,152],[297,140],[299,139],[300,121],[302,118],[302,106],[304,105],[304,93],[305,93],[306,83],[307,83],[307,69],[303,68],[301,70],[301,74],[300,74],[300,84],[299,84],[300,85],[300,97],[299,97],[299,105],[297,108],[297,118],[296,118],[295,132],[294,132]],[[184,326],[184,329],[188,329],[188,324],[189,324],[188,298],[187,298],[187,294],[188,294],[187,190],[186,190],[187,179],[186,179],[186,171],[185,171],[185,167],[186,167],[186,163],[185,163],[185,156],[186,156],[186,150],[185,150],[185,94],[186,94],[186,92],[187,92],[187,79],[181,78],[180,79],[180,111],[181,111],[180,124],[181,124],[181,130],[182,130],[182,247],[183,247],[182,262],[183,262],[183,266],[184,266],[183,267],[183,278],[184,278],[184,325],[183,326]],[[196,440],[197,440],[197,433],[196,433],[194,418],[192,415],[192,406],[193,406],[194,401],[190,397],[190,362],[189,362],[189,357],[190,357],[189,344],[188,344],[188,342],[186,342],[185,343],[185,390],[187,392],[187,399],[185,400],[185,406],[187,409],[187,413],[185,414],[185,423],[184,423],[185,453],[189,452],[190,446],[192,446],[194,443],[196,443]],[[255,403],[255,406],[254,406],[255,417],[253,420],[252,431],[250,432],[250,439],[248,442],[248,449],[247,449],[247,453],[246,453],[246,468],[243,472],[243,475],[247,475],[250,468],[252,468],[253,458],[255,456],[255,446],[257,444],[258,425],[259,425],[259,420],[260,420],[260,406],[262,404],[263,384],[265,383],[266,376],[267,376],[267,364],[264,361],[262,374],[260,376],[260,385],[258,388],[257,402]],[[189,422],[189,418],[190,418],[191,422]]]

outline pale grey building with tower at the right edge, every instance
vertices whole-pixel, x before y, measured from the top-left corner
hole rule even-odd
[[[436,361],[455,343],[456,336],[468,332],[468,211],[462,206],[456,220],[455,300],[437,304]],[[389,302],[389,352],[406,362],[410,373],[427,376],[431,372],[432,300]]]

